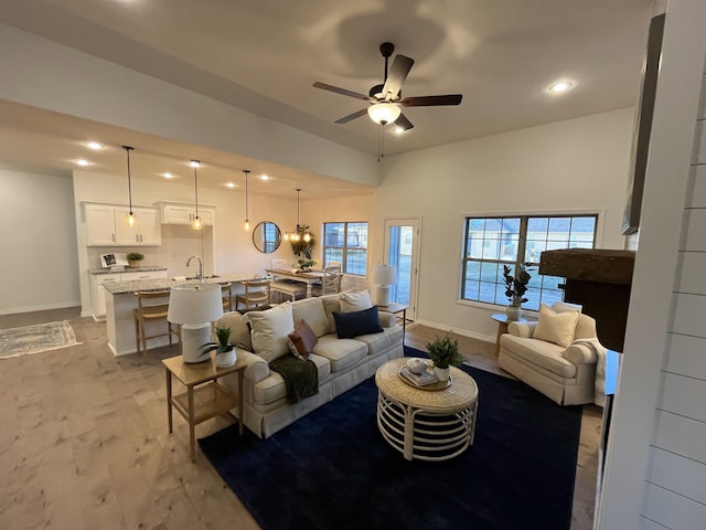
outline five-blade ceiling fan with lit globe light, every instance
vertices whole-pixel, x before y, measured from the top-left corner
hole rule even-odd
[[[387,125],[394,121],[402,130],[409,130],[414,125],[404,114],[402,114],[400,107],[432,107],[437,105],[459,105],[461,103],[461,98],[463,97],[462,94],[402,97],[402,85],[407,78],[411,66],[415,64],[415,60],[407,57],[406,55],[397,54],[393,61],[388,75],[387,61],[394,51],[395,45],[392,42],[383,42],[379,45],[379,52],[385,59],[385,78],[383,84],[373,86],[367,96],[365,94],[339,88],[338,86],[328,85],[325,83],[317,82],[313,84],[315,88],[355,97],[356,99],[363,99],[370,103],[367,108],[356,110],[353,114],[349,114],[347,116],[336,119],[336,124],[347,124],[349,121],[360,118],[367,113],[371,119],[376,124]]]

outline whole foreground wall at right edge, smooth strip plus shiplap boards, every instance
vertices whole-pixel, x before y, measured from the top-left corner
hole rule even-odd
[[[600,529],[705,528],[704,26],[706,2],[668,2]]]

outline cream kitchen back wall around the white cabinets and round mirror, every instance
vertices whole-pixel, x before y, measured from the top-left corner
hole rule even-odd
[[[204,171],[205,173],[205,171]],[[200,180],[206,174],[200,174]],[[127,203],[126,181],[115,176],[90,171],[74,172],[75,219],[72,225],[77,236],[78,263],[76,265],[81,278],[81,300],[83,314],[90,314],[92,300],[88,271],[99,268],[99,255],[107,252],[130,252],[131,247],[87,247],[85,219],[82,202]],[[132,204],[152,206],[159,201],[173,201],[193,204],[193,183],[170,181],[151,181],[132,177]],[[239,190],[199,189],[199,203],[215,206],[216,220],[213,229],[204,227],[194,231],[190,226],[162,225],[162,246],[139,247],[145,254],[145,265],[168,267],[168,275],[182,276],[195,273],[192,263],[188,269],[186,258],[199,255],[204,258],[204,274],[238,274],[244,278],[264,274],[272,258],[293,259],[291,247],[282,242],[272,254],[263,254],[253,244],[253,233],[242,227],[245,218],[245,194]],[[73,212],[72,212],[73,214]],[[249,214],[253,224],[271,221],[280,230],[292,229],[297,224],[297,203],[293,199],[279,199],[267,195],[249,194]],[[303,218],[302,218],[303,221]],[[207,251],[204,255],[202,237],[213,237],[213,255]],[[210,248],[211,245],[205,245]]]

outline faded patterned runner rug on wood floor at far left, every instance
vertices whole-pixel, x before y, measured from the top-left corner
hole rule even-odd
[[[76,346],[68,320],[0,329],[0,359],[41,353]]]

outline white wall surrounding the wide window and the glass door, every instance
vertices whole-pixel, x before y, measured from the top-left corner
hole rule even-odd
[[[623,248],[633,121],[625,108],[384,159],[371,263],[385,218],[421,216],[418,321],[494,339],[501,308],[459,301],[464,216],[599,213],[598,246]]]

